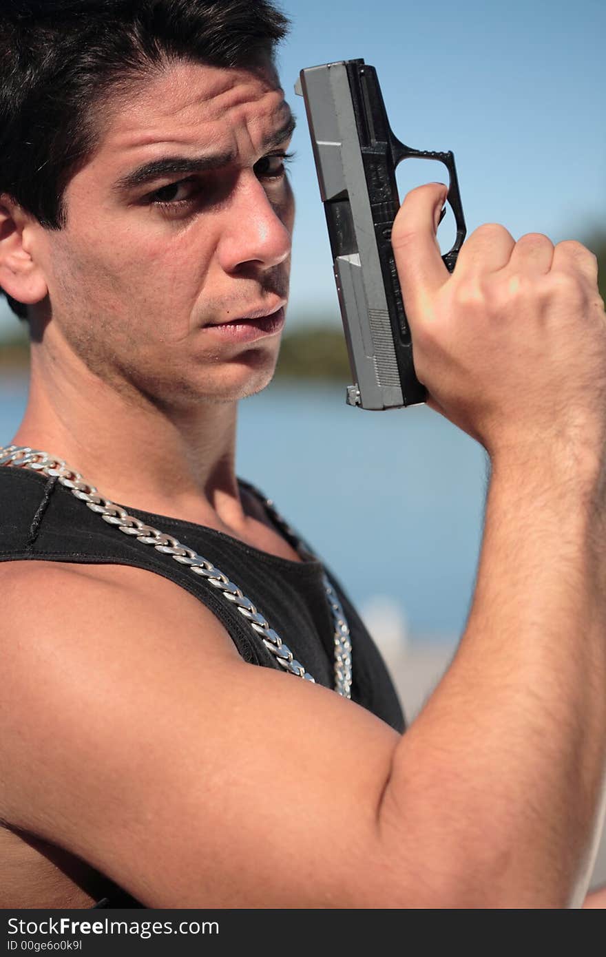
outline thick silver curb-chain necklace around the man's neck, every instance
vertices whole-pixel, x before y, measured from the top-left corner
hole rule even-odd
[[[248,621],[261,643],[285,671],[306,681],[315,681],[305,671],[303,665],[296,660],[280,635],[273,628],[270,628],[264,616],[258,611],[250,598],[247,598],[244,592],[234,582],[231,582],[227,575],[215,568],[208,559],[198,555],[192,548],[181,545],[172,535],[167,535],[129,515],[120,505],[102,498],[94,485],[82,479],[79,472],[75,472],[60,458],[50,456],[46,452],[37,452],[28,446],[0,446],[0,466],[3,465],[13,468],[33,469],[49,479],[57,479],[61,485],[72,492],[72,495],[84,501],[93,512],[99,513],[104,522],[114,525],[124,535],[132,535],[142,545],[152,545],[156,551],[168,555],[181,565],[188,566],[193,574],[206,578],[209,585],[220,591],[223,597],[231,602]],[[296,535],[284,522],[273,501],[265,499],[254,486],[246,484],[258,495],[274,523],[281,528],[288,538],[296,543],[299,555],[302,558],[315,557],[311,549],[305,545],[303,539]],[[351,698],[351,640],[348,622],[337,592],[328,581],[325,573],[323,573],[323,582],[334,625],[335,691],[343,698]]]

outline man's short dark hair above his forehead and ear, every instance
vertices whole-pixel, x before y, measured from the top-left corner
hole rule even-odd
[[[288,26],[273,0],[0,0],[0,193],[61,229],[105,96],[170,59],[272,59]]]

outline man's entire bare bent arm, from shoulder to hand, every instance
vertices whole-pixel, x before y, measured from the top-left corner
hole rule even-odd
[[[2,812],[148,905],[583,899],[606,739],[603,307],[587,259],[514,295],[505,231],[474,234],[440,274],[437,190],[415,190],[394,231],[415,361],[493,474],[460,650],[403,738],[246,665],[209,612],[147,572],[5,580]],[[495,251],[499,294],[484,275]]]

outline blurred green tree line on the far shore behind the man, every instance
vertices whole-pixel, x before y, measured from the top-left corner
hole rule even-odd
[[[597,256],[599,291],[606,300],[606,233],[589,236],[584,243]],[[0,342],[0,369],[25,369],[28,355],[27,325],[15,320],[14,332]],[[323,315],[319,310],[319,315],[305,317],[302,323],[287,323],[276,374],[284,379],[347,383],[348,354],[336,314]]]

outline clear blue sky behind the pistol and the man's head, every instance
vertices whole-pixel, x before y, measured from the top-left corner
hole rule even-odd
[[[338,316],[303,100],[292,92],[306,66],[362,56],[376,67],[396,136],[454,151],[469,233],[495,221],[515,238],[540,232],[554,242],[606,232],[604,0],[283,0],[282,8],[293,31],[281,78],[300,121],[290,322]],[[442,171],[405,162],[402,195]],[[445,219],[444,248],[449,228]],[[7,325],[15,327],[2,306],[0,330]]]

